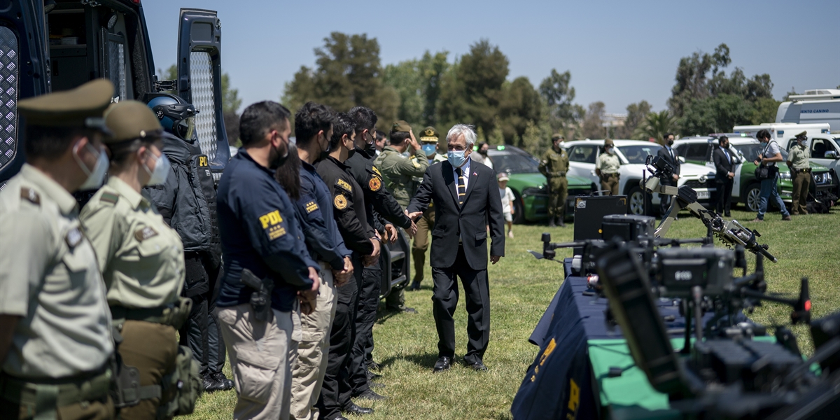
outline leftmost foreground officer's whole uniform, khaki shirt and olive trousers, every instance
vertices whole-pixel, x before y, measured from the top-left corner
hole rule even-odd
[[[111,312],[76,199],[24,165],[0,192],[0,249],[0,314],[21,317],[0,374],[0,417],[113,418]]]

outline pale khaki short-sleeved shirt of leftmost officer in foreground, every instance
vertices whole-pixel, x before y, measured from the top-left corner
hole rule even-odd
[[[31,380],[102,368],[111,311],[76,199],[24,165],[0,192],[0,313],[21,317],[3,364]]]

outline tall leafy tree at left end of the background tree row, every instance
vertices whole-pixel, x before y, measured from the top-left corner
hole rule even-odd
[[[283,101],[292,111],[308,101],[337,111],[370,107],[383,123],[396,119],[399,95],[383,83],[379,42],[367,34],[333,32],[315,49],[315,68],[302,66],[286,83]]]

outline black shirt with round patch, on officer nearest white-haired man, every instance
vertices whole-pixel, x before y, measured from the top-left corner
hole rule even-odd
[[[356,153],[347,160],[349,173],[365,192],[365,209],[368,213],[379,213],[387,221],[396,226],[407,229],[412,227],[412,221],[405,213],[402,206],[391,196],[391,192],[382,182],[382,176],[376,166],[373,165],[373,157],[365,150],[356,148]],[[368,216],[370,219],[370,215]]]

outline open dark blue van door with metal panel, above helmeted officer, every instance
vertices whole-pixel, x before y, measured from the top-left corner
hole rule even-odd
[[[222,24],[212,10],[182,8],[178,28],[178,96],[198,110],[196,133],[218,180],[230,160],[222,113]]]

